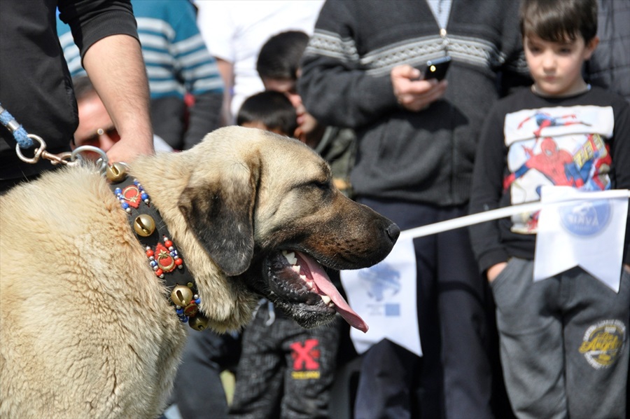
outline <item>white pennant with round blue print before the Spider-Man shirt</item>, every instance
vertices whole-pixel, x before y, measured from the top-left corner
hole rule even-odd
[[[533,280],[580,266],[619,292],[629,192],[542,186]]]

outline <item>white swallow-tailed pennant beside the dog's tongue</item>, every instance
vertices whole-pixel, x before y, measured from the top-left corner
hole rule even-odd
[[[391,253],[370,268],[342,270],[341,280],[353,310],[367,333],[351,328],[362,354],[384,338],[422,356],[416,310],[416,254],[412,238],[399,238]]]

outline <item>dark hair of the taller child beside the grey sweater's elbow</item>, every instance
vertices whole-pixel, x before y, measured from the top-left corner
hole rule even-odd
[[[297,69],[309,36],[301,31],[281,32],[260,48],[256,70],[260,78],[297,80]]]

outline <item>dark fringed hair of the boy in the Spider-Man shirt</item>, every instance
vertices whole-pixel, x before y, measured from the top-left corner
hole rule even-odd
[[[535,34],[550,42],[575,41],[578,34],[589,43],[597,34],[596,0],[523,0],[521,35]]]

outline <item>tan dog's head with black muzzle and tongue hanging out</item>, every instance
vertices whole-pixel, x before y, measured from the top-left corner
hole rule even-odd
[[[378,263],[398,226],[340,193],[325,161],[295,139],[228,127],[181,154],[192,167],[179,211],[230,281],[244,282],[303,327],[338,311],[367,330],[322,265]]]

